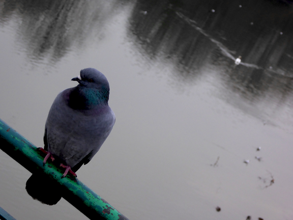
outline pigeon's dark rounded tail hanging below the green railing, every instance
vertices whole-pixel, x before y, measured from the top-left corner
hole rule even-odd
[[[33,199],[47,205],[55,205],[62,197],[61,186],[40,172],[26,181],[25,189]]]

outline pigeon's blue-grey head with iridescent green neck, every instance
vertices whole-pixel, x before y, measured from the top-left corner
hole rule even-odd
[[[73,93],[76,101],[84,100],[86,105],[95,105],[99,103],[108,103],[109,100],[109,82],[103,73],[94,69],[86,68],[80,70],[80,75],[71,79],[77,81],[79,85],[77,93]],[[83,98],[82,98],[83,97]]]

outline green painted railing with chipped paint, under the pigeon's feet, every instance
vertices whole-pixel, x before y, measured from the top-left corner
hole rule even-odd
[[[42,169],[60,183],[64,188],[63,198],[90,219],[128,219],[77,178],[72,175],[61,178],[64,171],[50,160],[43,166],[43,153],[1,119],[0,148],[31,173]]]

